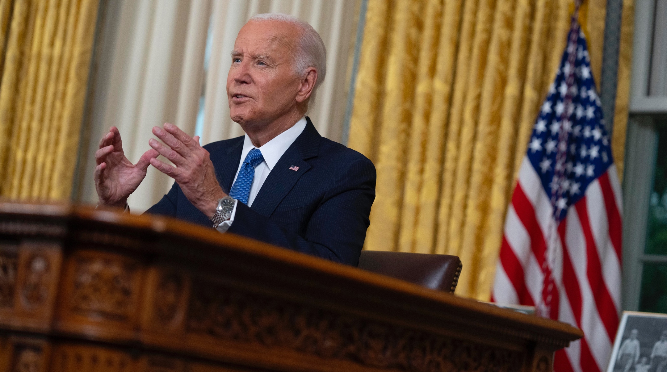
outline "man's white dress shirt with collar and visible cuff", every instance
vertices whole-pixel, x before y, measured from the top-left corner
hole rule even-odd
[[[239,167],[236,169],[236,175],[234,176],[234,182],[236,182],[236,177],[239,176],[239,171],[241,171],[241,165],[245,157],[248,155],[251,149],[259,149],[261,151],[261,156],[264,160],[255,167],[255,177],[252,179],[252,186],[250,187],[250,195],[248,195],[248,207],[250,207],[261,189],[261,185],[266,181],[266,177],[269,177],[269,173],[275,164],[283,156],[283,153],[287,151],[289,146],[299,137],[303,129],[305,129],[305,116],[301,117],[291,128],[287,129],[283,133],[275,136],[271,141],[265,143],[262,147],[255,147],[250,140],[248,135],[245,135],[243,139],[243,151],[241,151],[241,161],[239,161]],[[232,183],[233,184],[233,183]],[[234,204],[234,210],[231,212],[231,217],[227,221],[223,221],[220,225],[217,226],[217,231],[224,233],[229,229],[231,223],[234,222],[234,216],[236,215],[236,205],[239,203],[237,200]]]

